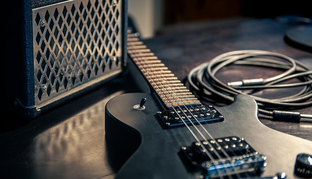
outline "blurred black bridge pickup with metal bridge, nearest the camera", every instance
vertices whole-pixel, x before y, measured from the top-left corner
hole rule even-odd
[[[259,177],[266,166],[265,156],[235,136],[193,142],[180,153],[187,166],[208,179]]]

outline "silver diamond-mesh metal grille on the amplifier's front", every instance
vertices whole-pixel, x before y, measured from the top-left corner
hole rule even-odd
[[[32,10],[37,107],[120,73],[121,4],[70,0]]]

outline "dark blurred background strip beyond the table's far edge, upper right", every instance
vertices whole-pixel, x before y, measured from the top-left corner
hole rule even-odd
[[[163,13],[164,24],[237,16],[312,16],[309,0],[165,0]]]

